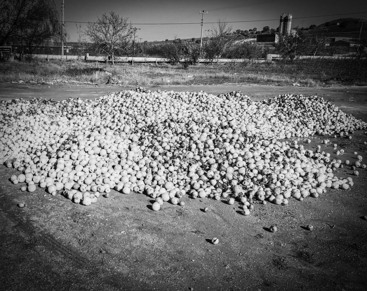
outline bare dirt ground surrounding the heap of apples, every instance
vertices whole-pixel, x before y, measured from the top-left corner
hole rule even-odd
[[[157,89],[157,88],[153,88]],[[281,93],[317,94],[367,121],[367,88],[294,88],[258,85],[170,86],[167,90],[248,92],[261,100]],[[113,86],[0,85],[8,98],[93,99]],[[324,139],[326,137],[323,137]],[[329,137],[327,137],[329,138]],[[303,139],[302,139],[303,140]],[[302,141],[301,140],[301,141]],[[364,132],[352,140],[333,137],[345,149],[333,157],[367,159]],[[354,187],[328,190],[287,206],[256,204],[250,216],[239,204],[190,199],[184,207],[165,203],[152,211],[148,196],[115,191],[89,207],[37,188],[20,191],[0,166],[0,290],[367,290],[367,171]],[[349,166],[337,176],[352,175]],[[24,202],[25,207],[17,207]],[[204,212],[204,207],[210,211]],[[305,226],[314,225],[313,231]],[[268,231],[276,225],[278,231]],[[210,243],[218,237],[219,244]]]

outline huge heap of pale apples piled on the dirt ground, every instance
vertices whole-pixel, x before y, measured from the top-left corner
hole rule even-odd
[[[248,215],[256,200],[286,205],[352,186],[333,174],[341,161],[289,139],[366,126],[317,96],[254,102],[239,91],[139,87],[95,100],[16,99],[1,102],[0,162],[22,172],[11,177],[22,190],[39,185],[83,205],[115,189],[159,205],[230,198]]]

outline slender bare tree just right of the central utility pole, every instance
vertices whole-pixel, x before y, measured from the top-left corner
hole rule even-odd
[[[210,44],[212,53],[214,53],[218,59],[228,52],[236,35],[232,33],[232,26],[228,26],[228,22],[218,19],[218,26],[213,27],[210,32]]]

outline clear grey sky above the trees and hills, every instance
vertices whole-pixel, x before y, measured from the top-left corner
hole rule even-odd
[[[59,1],[59,4],[57,3]],[[61,0],[55,0],[61,10]],[[248,30],[257,27],[262,30],[264,26],[276,28],[279,26],[281,13],[292,13],[292,27],[309,27],[311,24],[319,25],[323,22],[337,18],[361,18],[362,12],[367,12],[367,1],[327,1],[327,0],[64,0],[64,21],[69,40],[78,38],[76,25],[82,29],[86,23],[94,22],[103,13],[114,11],[128,22],[137,27],[136,41],[161,41],[176,38],[200,37],[201,14],[204,14],[203,37],[216,26],[218,19],[228,23],[233,31],[237,29]],[[358,12],[357,14],[348,14]],[[335,16],[320,16],[343,14]],[[364,15],[367,18],[367,13]],[[276,19],[276,20],[270,20]],[[213,23],[210,23],[213,22]],[[149,23],[149,24],[147,24]],[[158,24],[152,23],[196,23],[196,24]]]

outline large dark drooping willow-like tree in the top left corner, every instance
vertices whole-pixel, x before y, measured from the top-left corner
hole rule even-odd
[[[32,54],[46,40],[60,38],[59,14],[50,0],[0,0],[0,45],[23,44]]]

